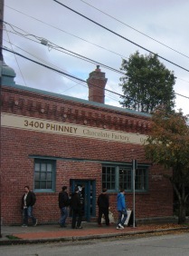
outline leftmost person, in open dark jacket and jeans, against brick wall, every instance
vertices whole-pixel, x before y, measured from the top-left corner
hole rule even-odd
[[[22,227],[28,226],[28,219],[31,218],[33,222],[33,226],[37,225],[37,219],[33,216],[33,205],[36,201],[35,194],[30,191],[29,186],[24,186],[24,195],[22,197],[22,209],[24,222]]]

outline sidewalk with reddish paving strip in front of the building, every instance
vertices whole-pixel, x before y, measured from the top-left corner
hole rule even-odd
[[[183,231],[188,230],[188,225],[167,224],[145,224],[136,228],[125,227],[124,230],[117,230],[116,224],[99,227],[96,222],[82,222],[83,229],[72,230],[71,224],[66,228],[57,225],[37,225],[36,227],[2,226],[2,238],[0,245],[36,243],[46,241],[80,241],[99,238],[110,238],[116,236],[137,235],[155,233],[162,231]]]

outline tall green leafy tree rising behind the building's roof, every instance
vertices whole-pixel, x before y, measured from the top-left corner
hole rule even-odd
[[[157,55],[131,54],[128,61],[123,60],[120,78],[124,96],[120,103],[143,113],[152,113],[158,105],[165,105],[167,112],[175,106],[175,75],[160,63]]]

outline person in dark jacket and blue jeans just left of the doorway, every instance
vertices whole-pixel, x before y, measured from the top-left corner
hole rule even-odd
[[[66,219],[68,217],[68,206],[69,206],[69,196],[66,192],[67,187],[62,186],[62,191],[59,192],[59,208],[61,210],[61,219],[59,220],[59,224],[61,228],[66,227]]]

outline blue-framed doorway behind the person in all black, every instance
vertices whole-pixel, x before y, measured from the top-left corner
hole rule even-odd
[[[71,193],[78,187],[83,205],[83,221],[90,222],[96,215],[96,184],[92,180],[71,180]]]

